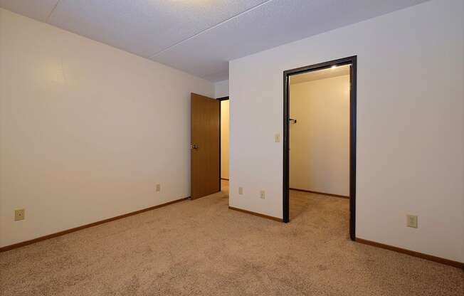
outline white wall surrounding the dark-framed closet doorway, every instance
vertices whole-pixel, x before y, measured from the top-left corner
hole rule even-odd
[[[232,60],[230,205],[282,217],[283,71],[357,55],[356,236],[463,262],[463,11],[428,1]]]

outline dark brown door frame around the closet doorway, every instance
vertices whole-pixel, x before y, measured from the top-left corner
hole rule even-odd
[[[283,72],[283,221],[290,221],[290,76],[315,70],[330,68],[333,65],[351,65],[349,92],[349,238],[356,240],[356,73],[357,56],[330,60],[325,63],[308,65]]]

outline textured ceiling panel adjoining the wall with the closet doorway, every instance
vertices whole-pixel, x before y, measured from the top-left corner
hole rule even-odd
[[[403,9],[424,0],[273,0],[152,59],[223,80],[228,60]],[[216,75],[217,74],[217,75]]]

